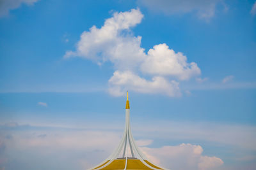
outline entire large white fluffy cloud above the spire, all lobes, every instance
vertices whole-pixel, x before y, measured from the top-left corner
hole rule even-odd
[[[166,44],[155,45],[145,53],[141,36],[133,36],[131,31],[142,18],[139,9],[114,13],[102,27],[93,26],[90,31],[84,31],[76,51],[67,51],[64,58],[83,57],[99,65],[112,62],[116,71],[109,79],[108,91],[114,96],[122,96],[126,90],[180,96],[177,81],[198,76],[200,69]],[[145,74],[147,78],[142,77]]]

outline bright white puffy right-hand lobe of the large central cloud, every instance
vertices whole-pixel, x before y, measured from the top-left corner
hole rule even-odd
[[[188,63],[185,55],[175,53],[166,44],[155,45],[148,51],[141,70],[153,75],[176,76],[180,80],[188,80],[201,73],[195,62]]]

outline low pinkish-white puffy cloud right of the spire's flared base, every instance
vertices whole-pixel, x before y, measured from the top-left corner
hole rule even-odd
[[[216,168],[223,164],[218,157],[202,155],[200,145],[184,144],[178,146],[163,146],[161,148],[143,147],[143,152],[156,164],[161,164],[170,169],[199,169]]]

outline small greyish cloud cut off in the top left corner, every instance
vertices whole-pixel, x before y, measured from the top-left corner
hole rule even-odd
[[[20,7],[20,4],[32,5],[38,0],[1,0],[0,2],[0,17],[8,15],[10,10]]]

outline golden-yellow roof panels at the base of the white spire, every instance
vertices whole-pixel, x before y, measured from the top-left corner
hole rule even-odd
[[[102,167],[102,166],[104,166],[105,164],[107,164],[108,162],[109,162],[109,160],[108,161],[106,161],[106,162],[104,162],[104,164],[102,164],[102,165],[100,165],[100,166],[98,166],[98,167],[95,167],[94,169],[124,169],[125,168],[125,161],[126,161],[126,159],[115,159],[115,160],[113,160],[113,162],[111,162],[108,166],[106,166],[106,167]],[[154,167],[154,168],[156,168],[156,169],[161,169],[160,167],[157,167],[157,166],[155,166],[154,164],[152,164],[152,163],[150,163],[150,162],[148,162],[148,160],[144,160],[148,165],[150,165],[150,166],[152,166],[152,167]],[[102,168],[100,168],[100,167],[102,167]],[[147,166],[145,166],[144,164],[143,164],[143,162],[141,162],[140,161],[140,159],[127,159],[127,167],[126,167],[126,169],[150,169],[149,167],[147,167]]]

